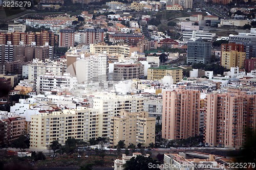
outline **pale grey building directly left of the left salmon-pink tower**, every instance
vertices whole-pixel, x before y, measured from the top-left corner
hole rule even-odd
[[[148,112],[150,117],[156,118],[156,123],[162,123],[163,99],[145,98],[143,110]]]

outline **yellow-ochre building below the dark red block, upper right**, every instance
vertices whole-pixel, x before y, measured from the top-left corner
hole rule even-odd
[[[245,61],[245,52],[238,51],[230,51],[230,52],[222,52],[221,54],[221,65],[226,69],[230,69],[230,67],[244,67]]]

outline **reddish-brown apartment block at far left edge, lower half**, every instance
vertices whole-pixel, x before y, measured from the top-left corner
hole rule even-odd
[[[9,117],[2,119],[5,124],[4,128],[4,143],[9,144],[13,140],[17,139],[20,135],[26,134],[26,119],[25,117]]]

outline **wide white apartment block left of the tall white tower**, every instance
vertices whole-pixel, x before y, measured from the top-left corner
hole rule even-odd
[[[63,74],[66,73],[66,69],[66,59],[60,59],[59,61],[33,59],[27,67],[23,67],[23,71],[28,72],[28,80],[32,82],[36,82],[37,76],[45,75],[46,72],[51,72],[53,76],[63,76]]]

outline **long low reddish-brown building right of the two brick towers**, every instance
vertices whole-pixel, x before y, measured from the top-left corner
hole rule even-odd
[[[112,43],[118,43],[118,42],[125,42],[129,45],[137,45],[139,41],[144,40],[144,35],[143,34],[120,34],[120,33],[115,33],[115,34],[110,34],[109,35],[109,40]]]

